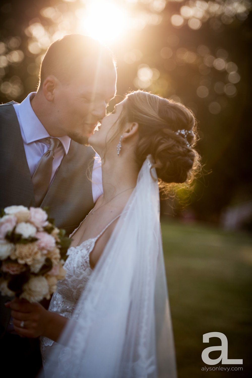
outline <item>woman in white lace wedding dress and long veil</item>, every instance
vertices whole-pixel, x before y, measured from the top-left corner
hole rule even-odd
[[[15,330],[41,336],[46,377],[175,378],[159,186],[190,183],[199,170],[195,118],[135,91],[88,141],[102,160],[104,194],[71,235],[48,311],[11,303]]]

